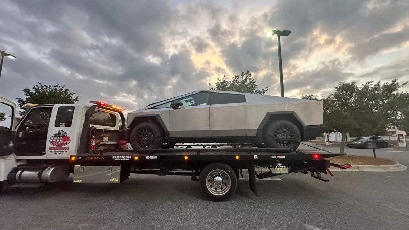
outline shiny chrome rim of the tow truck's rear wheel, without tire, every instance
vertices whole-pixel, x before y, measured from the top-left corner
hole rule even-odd
[[[215,169],[206,177],[206,188],[216,196],[221,196],[227,193],[231,187],[230,176],[226,171]]]

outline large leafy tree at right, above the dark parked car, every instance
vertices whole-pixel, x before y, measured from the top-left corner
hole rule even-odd
[[[352,135],[383,135],[389,124],[404,124],[409,110],[406,85],[397,79],[381,83],[368,81],[360,87],[355,82],[340,82],[334,93],[322,98],[324,125],[329,132],[342,133],[340,152],[344,152],[345,133]],[[312,95],[305,99],[317,100]]]

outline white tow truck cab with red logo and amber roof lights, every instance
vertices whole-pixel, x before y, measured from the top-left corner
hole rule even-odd
[[[70,155],[126,148],[123,109],[104,102],[91,103],[28,104],[24,117],[18,119],[15,103],[0,97],[0,189],[6,180],[65,179],[72,171]],[[46,169],[50,171],[48,178]]]

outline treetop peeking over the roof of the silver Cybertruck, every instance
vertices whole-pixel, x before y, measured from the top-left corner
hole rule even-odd
[[[211,90],[221,90],[221,91],[235,91],[242,93],[251,94],[265,94],[268,91],[268,87],[258,89],[256,80],[252,77],[252,73],[249,71],[241,72],[241,75],[235,75],[231,81],[226,80],[224,75],[222,79],[217,78],[217,82],[209,84]]]

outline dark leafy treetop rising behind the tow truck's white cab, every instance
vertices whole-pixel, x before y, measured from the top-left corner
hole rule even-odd
[[[65,88],[65,85],[43,85],[38,83],[32,89],[25,88],[22,90],[26,98],[17,98],[18,106],[27,103],[39,105],[44,104],[71,104],[78,101],[78,96],[74,97],[74,92]],[[23,116],[26,111],[22,109],[20,115]]]

